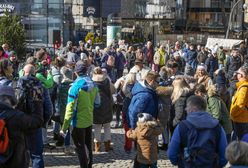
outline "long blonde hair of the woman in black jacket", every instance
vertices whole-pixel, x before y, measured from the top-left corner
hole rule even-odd
[[[190,92],[190,86],[186,82],[186,80],[182,77],[176,78],[173,83],[173,92],[171,95],[172,103],[174,104],[179,97],[181,97],[183,94],[187,94]]]

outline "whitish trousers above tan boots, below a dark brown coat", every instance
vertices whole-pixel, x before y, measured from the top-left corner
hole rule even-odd
[[[111,140],[111,131],[110,131],[110,123],[106,124],[95,124],[94,125],[94,142],[101,142],[101,130],[102,127],[104,129],[104,142],[110,141]]]

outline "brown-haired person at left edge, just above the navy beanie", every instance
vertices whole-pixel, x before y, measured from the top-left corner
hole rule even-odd
[[[0,60],[0,85],[12,86],[13,68],[8,59]]]

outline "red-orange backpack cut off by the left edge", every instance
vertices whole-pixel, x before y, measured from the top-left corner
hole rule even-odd
[[[5,111],[0,114],[0,164],[5,163],[13,153],[12,143],[8,135],[7,122],[15,114],[15,112],[7,113]]]

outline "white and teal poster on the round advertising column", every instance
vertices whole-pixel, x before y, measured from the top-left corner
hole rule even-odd
[[[121,26],[107,26],[107,46],[121,39]]]

